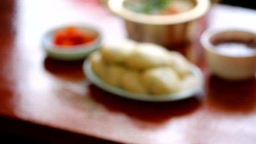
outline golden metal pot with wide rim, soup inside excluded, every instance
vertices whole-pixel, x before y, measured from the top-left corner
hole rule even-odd
[[[128,37],[139,42],[164,46],[189,43],[195,34],[195,20],[210,8],[210,0],[191,0],[191,10],[173,15],[149,15],[132,12],[124,7],[126,0],[108,0],[110,11],[125,21]]]

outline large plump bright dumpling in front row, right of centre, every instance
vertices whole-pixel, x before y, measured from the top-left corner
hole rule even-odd
[[[146,70],[142,74],[142,82],[152,94],[170,94],[180,90],[180,79],[169,67]]]

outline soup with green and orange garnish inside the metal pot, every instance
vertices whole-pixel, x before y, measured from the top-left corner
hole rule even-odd
[[[194,7],[190,0],[126,0],[124,6],[143,14],[178,14]]]

